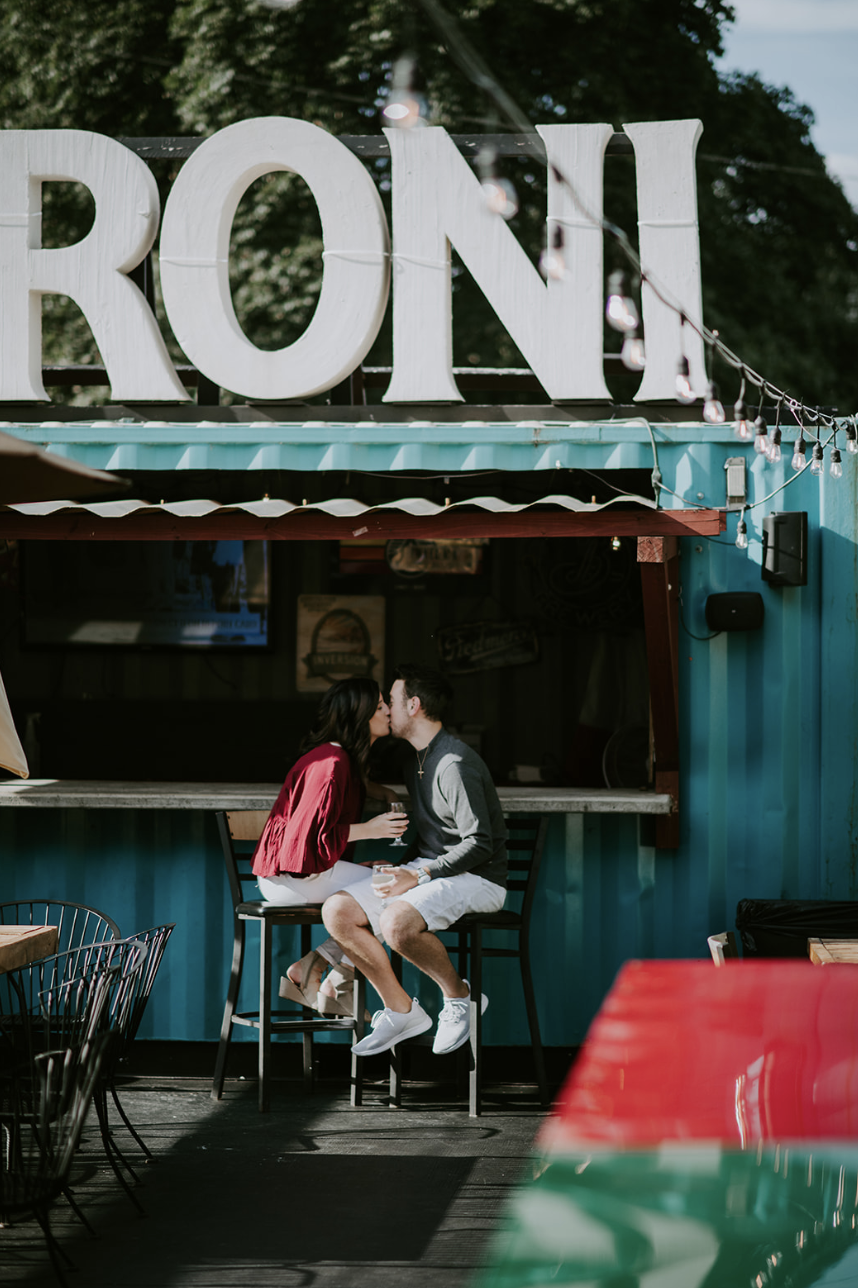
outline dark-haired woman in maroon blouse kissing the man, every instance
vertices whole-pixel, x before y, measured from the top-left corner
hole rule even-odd
[[[366,867],[353,862],[354,842],[405,831],[403,814],[377,814],[361,822],[367,795],[397,799],[366,777],[370,747],[389,732],[390,711],[375,680],[339,680],[327,690],[316,725],[304,739],[304,755],[286,775],[254,851],[254,875],[268,903],[322,903],[330,894],[366,881]],[[322,984],[329,966],[334,969]],[[292,962],[281,979],[280,994],[326,1015],[350,1015],[353,980],[354,969],[329,939]]]

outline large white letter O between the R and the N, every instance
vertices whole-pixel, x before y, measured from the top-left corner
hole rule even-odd
[[[285,349],[241,330],[229,291],[229,233],[250,184],[274,170],[307,183],[325,242],[313,319]],[[174,335],[198,370],[247,398],[308,398],[344,380],[379,334],[388,300],[389,233],[363,165],[307,121],[240,121],[202,143],[173,184],[161,225],[161,289]]]

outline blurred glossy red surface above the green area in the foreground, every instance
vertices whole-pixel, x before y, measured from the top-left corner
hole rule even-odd
[[[540,1137],[546,1149],[858,1136],[858,966],[624,966]]]

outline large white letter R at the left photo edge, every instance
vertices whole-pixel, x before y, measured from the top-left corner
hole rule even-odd
[[[41,184],[82,183],[95,222],[75,246],[41,247]],[[86,130],[0,131],[0,401],[46,399],[41,296],[68,295],[100,350],[115,399],[187,399],[152,310],[126,273],[155,241],[155,179],[134,152]]]

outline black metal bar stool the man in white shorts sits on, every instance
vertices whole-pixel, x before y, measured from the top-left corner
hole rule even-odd
[[[518,960],[540,1103],[544,1105],[549,1103],[545,1056],[529,956],[531,912],[542,862],[548,819],[545,815],[508,818],[506,828],[509,832],[506,840],[509,853],[508,907],[492,913],[468,913],[447,930],[441,931],[442,936],[456,935],[456,945],[451,945],[450,951],[457,956],[459,974],[470,984],[470,1045],[462,1050],[465,1054],[470,1054],[468,1108],[472,1117],[482,1113],[483,1016],[479,999],[486,957]],[[518,903],[519,907],[509,907],[510,903]],[[486,943],[483,935],[493,931],[505,931],[508,939],[511,935],[514,942],[511,944],[509,942],[504,944]],[[396,1105],[401,1104],[402,1096],[401,1059],[398,1048],[394,1048],[390,1056],[390,1099]]]

